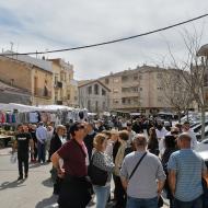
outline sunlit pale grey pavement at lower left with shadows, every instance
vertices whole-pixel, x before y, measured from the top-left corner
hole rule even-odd
[[[0,207],[58,208],[57,196],[53,195],[53,183],[49,178],[51,163],[30,164],[28,178],[16,182],[18,163],[10,162],[10,151],[11,148],[0,149]],[[95,208],[95,204],[89,208]]]

